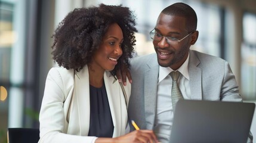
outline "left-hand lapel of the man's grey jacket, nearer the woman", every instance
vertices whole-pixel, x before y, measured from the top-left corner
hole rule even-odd
[[[154,58],[156,59],[156,57]],[[148,63],[149,69],[144,74],[144,103],[146,116],[146,129],[153,129],[156,116],[156,96],[158,89],[158,62]]]

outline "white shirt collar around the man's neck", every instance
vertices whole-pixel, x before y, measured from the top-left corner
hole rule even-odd
[[[165,79],[166,76],[168,76],[171,71],[174,71],[171,69],[171,67],[161,67],[159,66],[159,82],[161,82],[163,79]],[[178,69],[180,73],[186,77],[187,80],[189,80],[189,55],[187,56],[186,61],[181,65],[181,67]]]

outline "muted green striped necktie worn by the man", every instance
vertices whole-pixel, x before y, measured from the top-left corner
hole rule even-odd
[[[171,88],[171,100],[172,100],[172,108],[175,111],[176,104],[178,100],[183,99],[180,88],[178,88],[178,77],[180,76],[179,71],[171,71],[170,73],[172,78],[172,88]]]

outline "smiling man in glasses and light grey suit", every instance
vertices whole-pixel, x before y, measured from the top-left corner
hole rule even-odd
[[[156,53],[131,60],[129,118],[141,129],[153,129],[160,142],[169,142],[174,117],[171,71],[180,72],[178,90],[185,100],[242,101],[227,61],[190,50],[198,39],[196,27],[189,5],[166,7],[150,32]]]

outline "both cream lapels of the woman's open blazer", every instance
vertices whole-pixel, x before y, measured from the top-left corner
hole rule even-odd
[[[104,73],[104,83],[106,86],[107,98],[114,125],[113,136],[120,136],[121,132],[121,89],[119,83],[109,72]],[[88,67],[85,66],[75,75],[75,97],[78,107],[78,123],[80,135],[88,135],[90,129],[90,82]]]

